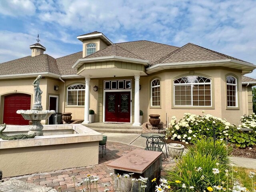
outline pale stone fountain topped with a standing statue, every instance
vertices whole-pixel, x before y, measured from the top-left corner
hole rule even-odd
[[[48,119],[51,114],[54,114],[54,110],[43,110],[42,107],[42,90],[39,87],[41,75],[38,75],[33,82],[34,86],[34,105],[32,110],[18,110],[17,114],[21,114],[26,120],[30,120],[32,124],[29,126],[28,134],[36,133],[37,136],[43,136],[44,126],[41,124],[41,120]]]

